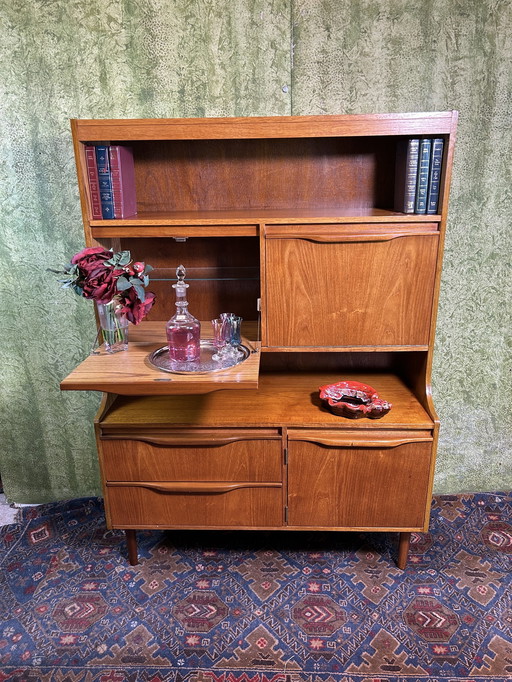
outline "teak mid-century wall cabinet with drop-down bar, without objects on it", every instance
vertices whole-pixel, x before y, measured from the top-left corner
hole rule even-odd
[[[87,245],[155,267],[129,349],[62,389],[104,394],[95,428],[107,523],[137,529],[428,529],[439,421],[430,375],[457,113],[73,120]],[[438,214],[393,210],[400,140],[442,137]],[[132,147],[137,214],[93,220],[86,143]],[[249,358],[211,375],[147,363],[183,263],[191,312],[244,318]],[[382,419],[325,409],[344,379]]]

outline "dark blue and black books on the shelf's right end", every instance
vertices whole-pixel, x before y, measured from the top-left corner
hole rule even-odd
[[[444,140],[400,140],[396,156],[395,211],[437,213]]]

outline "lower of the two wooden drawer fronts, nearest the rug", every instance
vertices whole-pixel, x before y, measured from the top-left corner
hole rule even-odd
[[[281,527],[282,486],[271,485],[107,484],[107,516],[113,528]]]

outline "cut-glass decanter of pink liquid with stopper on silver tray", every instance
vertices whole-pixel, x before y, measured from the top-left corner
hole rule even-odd
[[[172,285],[176,292],[176,313],[166,325],[169,359],[175,362],[193,362],[201,354],[201,323],[188,311],[186,274],[183,265],[176,268],[178,281]]]

